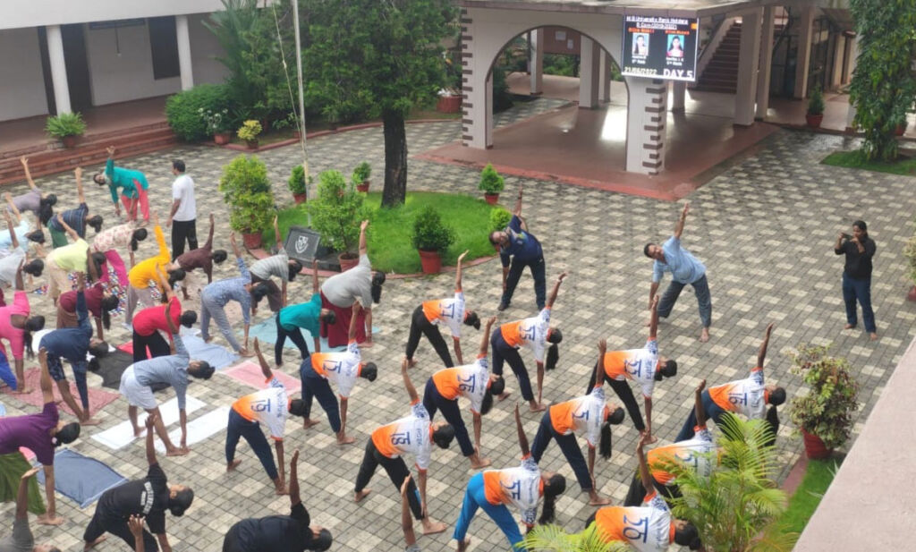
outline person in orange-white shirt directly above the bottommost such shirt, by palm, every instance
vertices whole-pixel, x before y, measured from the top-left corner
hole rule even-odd
[[[649,462],[649,473],[652,475],[652,482],[655,483],[655,490],[660,492],[666,500],[681,496],[677,482],[674,480],[674,475],[666,471],[666,465],[670,465],[670,462],[676,462],[685,469],[695,471],[702,477],[709,477],[713,471],[713,464],[716,461],[713,456],[716,447],[713,432],[706,428],[706,415],[703,412],[703,387],[705,386],[706,380],[703,380],[693,392],[693,411],[696,415],[693,438],[678,441],[671,445],[656,447],[646,454]],[[638,506],[643,502],[645,496],[646,489],[643,487],[642,482],[639,481],[638,474],[634,473],[624,505]]]

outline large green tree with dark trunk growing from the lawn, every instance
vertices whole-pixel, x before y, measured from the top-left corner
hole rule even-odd
[[[381,115],[385,132],[382,205],[407,194],[410,108],[445,83],[442,38],[452,34],[449,0],[304,0],[303,71],[309,103],[331,121]]]

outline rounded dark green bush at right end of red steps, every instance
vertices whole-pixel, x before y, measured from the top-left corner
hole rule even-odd
[[[231,107],[224,84],[199,84],[191,90],[178,92],[166,100],[166,118],[172,131],[182,140],[195,142],[210,137],[211,132],[203,112],[223,113]],[[234,121],[226,121],[231,128]]]

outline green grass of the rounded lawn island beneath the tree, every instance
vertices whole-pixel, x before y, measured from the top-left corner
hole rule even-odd
[[[458,255],[469,251],[465,262],[478,257],[496,254],[487,239],[490,233],[490,211],[497,209],[483,199],[471,196],[436,193],[431,191],[408,192],[404,205],[395,209],[381,209],[380,191],[366,194],[365,205],[371,211],[369,221],[369,257],[372,266],[385,272],[398,274],[420,272],[420,254],[410,241],[413,219],[426,205],[431,205],[442,215],[442,222],[455,232],[455,243],[442,255],[442,265],[454,265]],[[278,225],[285,237],[292,225],[308,226],[305,204],[279,211]],[[273,231],[264,233],[264,247],[274,244]]]

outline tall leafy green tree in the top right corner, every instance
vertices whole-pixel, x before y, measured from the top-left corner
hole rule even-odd
[[[849,88],[856,105],[854,124],[865,131],[868,159],[897,157],[894,131],[916,101],[916,2],[850,0],[856,19],[858,59]]]

